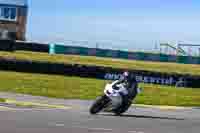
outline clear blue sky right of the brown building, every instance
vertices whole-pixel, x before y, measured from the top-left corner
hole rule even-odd
[[[199,44],[199,12],[199,0],[29,0],[27,39],[121,50]]]

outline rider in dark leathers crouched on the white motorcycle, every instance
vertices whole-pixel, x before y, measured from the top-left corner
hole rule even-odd
[[[125,84],[125,88],[128,90],[128,94],[125,95],[123,93],[120,93],[122,96],[122,106],[126,106],[129,100],[132,100],[137,95],[137,88],[138,83],[136,81],[136,78],[134,75],[130,74],[128,71],[125,71],[122,74],[122,77],[113,85],[114,89],[117,89],[118,84]]]

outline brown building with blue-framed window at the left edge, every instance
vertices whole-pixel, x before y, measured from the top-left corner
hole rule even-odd
[[[27,0],[0,0],[0,39],[26,40]]]

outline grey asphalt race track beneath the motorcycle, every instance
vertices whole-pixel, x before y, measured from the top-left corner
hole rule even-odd
[[[53,101],[53,100],[52,100]],[[58,101],[56,101],[58,103]],[[62,100],[68,108],[0,105],[2,133],[199,133],[199,109],[132,107],[123,116],[90,115],[91,101]]]

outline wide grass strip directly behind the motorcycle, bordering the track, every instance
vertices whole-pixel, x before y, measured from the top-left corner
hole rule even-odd
[[[0,91],[66,99],[95,99],[105,80],[0,71]],[[141,84],[138,104],[200,106],[200,89]]]

